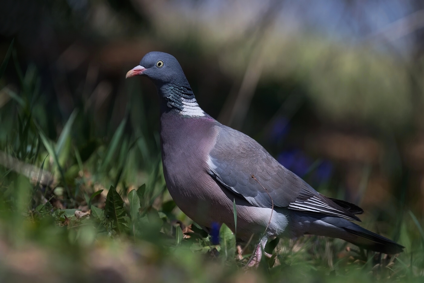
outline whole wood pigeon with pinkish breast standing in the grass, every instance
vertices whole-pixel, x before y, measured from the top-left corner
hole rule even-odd
[[[147,76],[160,100],[160,139],[165,181],[178,207],[206,231],[225,223],[237,238],[259,241],[259,263],[269,237],[313,234],[340,238],[386,254],[403,246],[351,221],[362,209],[328,198],[279,164],[249,136],[222,125],[198,105],[175,57],[150,52],[126,77]],[[251,263],[252,263],[251,262]]]

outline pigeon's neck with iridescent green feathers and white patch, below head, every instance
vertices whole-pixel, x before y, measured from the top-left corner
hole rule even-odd
[[[205,116],[199,107],[190,85],[165,84],[159,88],[162,111],[176,111],[186,116]]]

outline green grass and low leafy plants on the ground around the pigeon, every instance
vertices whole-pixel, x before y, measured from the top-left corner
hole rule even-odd
[[[17,62],[10,50],[0,75],[10,58]],[[15,66],[20,91],[0,81],[0,95],[10,99],[0,108],[2,282],[422,282],[423,220],[408,211],[388,222],[401,223],[393,230],[406,246],[400,255],[307,236],[269,241],[273,257],[244,269],[254,243],[236,243],[221,226],[214,245],[176,207],[157,139],[147,125],[126,131],[131,107],[106,140],[84,130],[93,125],[84,107],[56,132],[36,68]]]

